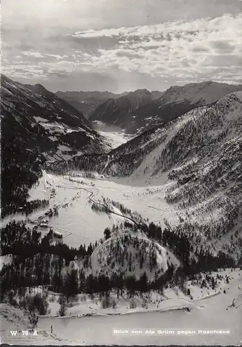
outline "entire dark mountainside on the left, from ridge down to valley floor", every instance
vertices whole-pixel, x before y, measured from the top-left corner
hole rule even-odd
[[[74,107],[42,85],[1,75],[3,215],[24,204],[46,160],[103,151],[103,138]]]

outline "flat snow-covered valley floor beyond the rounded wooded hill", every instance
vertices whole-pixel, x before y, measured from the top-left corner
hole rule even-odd
[[[43,171],[43,176],[39,183],[30,190],[30,198],[46,199],[50,201],[50,208],[58,205],[58,216],[49,221],[49,227],[61,232],[64,242],[69,246],[78,247],[80,244],[98,241],[103,237],[105,228],[112,228],[113,224],[121,223],[126,219],[116,214],[96,213],[92,210],[93,201],[103,201],[109,198],[115,202],[123,204],[132,212],[137,211],[149,222],[154,221],[164,225],[164,218],[173,224],[178,221],[178,214],[175,208],[171,208],[164,200],[164,194],[168,186],[137,187],[129,185],[125,180],[113,180],[98,174],[96,178],[83,178],[82,172],[75,172],[79,177],[55,176]],[[71,178],[71,181],[69,180]],[[83,183],[80,183],[83,181]],[[54,196],[51,196],[51,189],[55,189]],[[92,201],[90,201],[92,196]],[[28,215],[28,219],[36,221],[38,217],[44,216],[48,210],[39,210]],[[121,212],[120,212],[121,214]],[[6,217],[1,221],[1,226],[15,220],[26,220],[23,214]],[[29,224],[33,227],[33,224]],[[46,228],[40,228],[42,234],[48,232]]]

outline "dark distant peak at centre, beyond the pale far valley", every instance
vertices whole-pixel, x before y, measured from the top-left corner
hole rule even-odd
[[[135,90],[117,99],[107,100],[96,108],[89,120],[126,128],[126,124],[130,122],[130,115],[153,100],[155,96],[148,90]]]

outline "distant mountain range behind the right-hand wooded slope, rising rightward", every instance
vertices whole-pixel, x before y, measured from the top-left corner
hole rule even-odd
[[[165,92],[136,90],[99,105],[89,120],[119,126],[126,133],[141,133],[155,124],[165,124],[184,112],[214,103],[222,96],[239,90],[242,90],[242,85],[212,81],[189,83],[182,87],[175,85]]]

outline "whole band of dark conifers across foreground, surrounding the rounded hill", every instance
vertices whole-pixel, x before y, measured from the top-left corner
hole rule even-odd
[[[127,225],[128,222],[125,222],[124,226]],[[112,289],[116,289],[117,296],[126,291],[128,297],[132,297],[137,293],[142,294],[149,290],[162,290],[168,285],[168,282],[183,288],[185,280],[196,273],[216,271],[225,267],[232,268],[238,265],[232,257],[223,252],[219,252],[216,256],[212,255],[211,252],[200,246],[200,242],[194,246],[194,235],[186,235],[179,228],[172,229],[167,225],[162,230],[154,223],[143,225],[142,228],[146,230],[150,239],[168,247],[178,257],[181,262],[180,268],[175,270],[171,261],[170,264],[167,262],[168,270],[160,273],[156,269],[157,252],[153,245],[151,244],[150,252],[147,255],[146,242],[123,235],[116,244],[111,242],[112,257],[107,257],[111,269],[119,262],[121,266],[126,264],[123,266],[123,271],[119,271],[119,273],[111,271],[112,276],[110,273],[100,273],[99,276],[94,277],[88,273],[90,255],[97,243],[90,243],[87,248],[83,245],[79,248],[69,248],[66,244],[51,244],[53,230],[50,230],[41,239],[41,233],[37,231],[36,227],[31,230],[26,228],[22,222],[12,221],[1,230],[2,255],[13,255],[12,264],[4,265],[0,272],[1,298],[6,296],[10,289],[18,291],[19,288],[37,285],[52,285],[56,291],[62,292],[68,298],[81,292],[87,294],[100,292],[108,296]],[[137,230],[137,226],[133,230]],[[116,228],[113,228],[112,232],[116,232]],[[150,271],[155,270],[154,280],[148,281],[147,273],[143,273],[139,279],[132,274],[129,276],[125,274],[126,269],[134,273],[134,264],[137,266],[132,252],[130,253],[131,248],[128,252],[131,244],[137,250],[140,269],[145,264],[145,255],[148,256],[147,264],[150,266]],[[80,269],[75,269],[74,262],[78,260],[82,265],[79,266]],[[69,265],[71,265],[71,269],[69,268],[63,273],[64,267]]]

